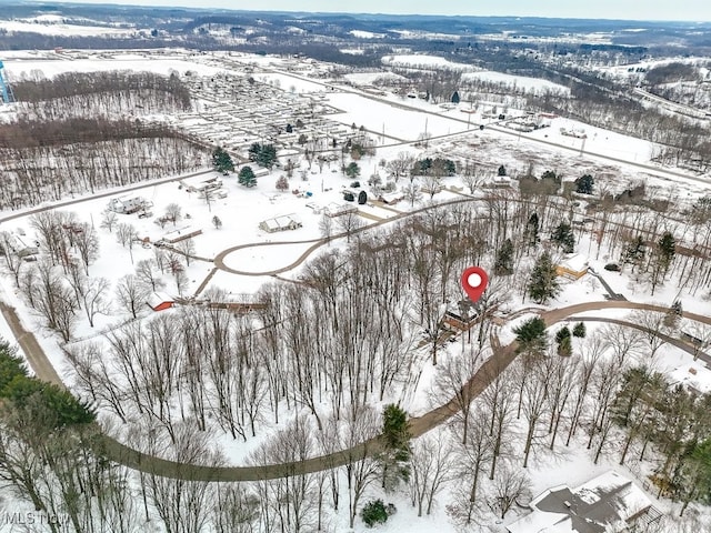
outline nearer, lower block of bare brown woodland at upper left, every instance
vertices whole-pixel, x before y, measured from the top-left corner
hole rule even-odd
[[[17,124],[22,131],[19,137],[14,137],[14,128],[0,127],[0,170],[4,174],[4,187],[0,189],[2,209],[37,205],[70,194],[180,174],[207,163],[202,147],[161,128],[129,124],[123,129],[114,122],[81,121],[78,124],[72,120],[56,122],[51,128],[34,123],[29,130]],[[28,132],[33,135],[43,130],[51,137],[44,138],[42,133],[28,138]],[[92,135],[96,139],[91,139]],[[96,142],[97,139],[101,142]]]

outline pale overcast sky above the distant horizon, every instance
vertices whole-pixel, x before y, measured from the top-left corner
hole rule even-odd
[[[81,1],[81,0],[79,0]],[[710,0],[84,0],[88,3],[401,14],[711,21]],[[2,0],[0,0],[0,3]]]

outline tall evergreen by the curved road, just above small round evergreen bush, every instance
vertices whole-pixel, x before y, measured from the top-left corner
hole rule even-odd
[[[408,414],[395,404],[385,405],[382,413],[382,486],[393,490],[400,481],[410,479],[410,426]]]

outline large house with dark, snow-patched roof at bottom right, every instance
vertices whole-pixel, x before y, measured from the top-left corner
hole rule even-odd
[[[509,533],[617,533],[661,516],[640,487],[612,471],[577,489],[549,489],[529,506],[531,513],[508,525]]]

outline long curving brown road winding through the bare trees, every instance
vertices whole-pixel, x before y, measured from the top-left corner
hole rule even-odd
[[[669,308],[638,302],[602,301],[553,309],[542,312],[541,318],[545,321],[545,324],[550,326],[555,322],[567,320],[577,313],[600,309],[641,309],[664,313],[669,311]],[[20,345],[26,351],[28,361],[36,375],[42,380],[50,381],[63,386],[61,380],[57,375],[57,372],[48,360],[47,354],[37,343],[34,335],[22,328],[22,324],[20,323],[14,309],[0,303],[0,311],[4,314],[14,336],[18,339],[18,342],[20,342]],[[711,324],[711,318],[709,316],[687,312],[683,313],[683,316]],[[575,320],[581,319],[578,318]],[[583,320],[595,319],[583,318]],[[622,325],[629,325],[632,328],[641,328],[639,324],[633,324],[622,320],[603,320],[620,323]],[[693,353],[693,348],[689,346],[682,341],[668,336],[664,336],[663,339],[667,342],[670,342],[689,353]],[[511,362],[517,356],[515,348],[515,343],[511,343],[501,348],[494,346],[494,354],[482,364],[477,373],[472,375],[469,382],[467,382],[467,384],[464,385],[469,389],[470,398],[472,400],[481,394],[481,392],[495,379],[495,376],[498,376],[503,370],[507,369],[509,364],[511,364]],[[444,405],[440,405],[439,408],[433,409],[422,416],[410,419],[410,428],[413,436],[422,435],[433,428],[437,428],[438,425],[449,420],[458,411],[459,408],[457,401],[452,399]],[[109,435],[102,435],[102,438],[99,439],[96,443],[97,453],[104,455],[111,461],[123,464],[130,469],[138,470],[143,473],[189,481],[224,482],[277,479],[333,469],[348,464],[365,455],[373,454],[379,450],[379,447],[380,444],[378,439],[372,439],[348,450],[341,450],[329,455],[311,457],[307,461],[296,463],[269,464],[264,466],[207,466],[179,463],[153,455],[148,455],[120,443]]]

